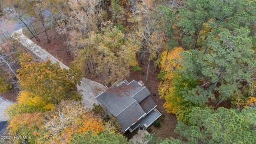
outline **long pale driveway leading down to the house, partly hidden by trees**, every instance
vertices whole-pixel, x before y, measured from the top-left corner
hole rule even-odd
[[[50,59],[52,63],[59,63],[62,69],[69,69],[66,65],[64,65],[61,61],[53,57],[50,53],[46,52],[42,47],[35,44],[29,38],[22,34],[22,29],[15,31],[12,36],[17,39],[23,46],[27,47],[28,50],[36,54],[39,58],[46,61]],[[80,85],[77,85],[77,90],[83,95],[83,103],[85,103],[86,108],[92,108],[94,103],[98,103],[96,99],[94,99],[98,94],[107,90],[107,87],[103,86],[100,83],[91,81],[90,79],[84,78],[81,81]]]

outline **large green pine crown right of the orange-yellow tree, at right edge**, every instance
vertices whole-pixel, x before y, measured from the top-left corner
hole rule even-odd
[[[239,90],[242,81],[250,81],[256,65],[250,31],[246,28],[224,30],[218,37],[211,37],[207,53],[190,50],[182,53],[180,73],[187,79],[202,82],[195,89],[183,91],[186,101],[204,105],[209,98],[229,100]],[[214,93],[219,94],[215,99]]]

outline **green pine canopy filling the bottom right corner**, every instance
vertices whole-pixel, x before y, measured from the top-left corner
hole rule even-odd
[[[209,108],[194,108],[189,114],[188,126],[179,122],[175,131],[188,143],[255,143],[256,109],[242,111],[220,107],[216,111]]]

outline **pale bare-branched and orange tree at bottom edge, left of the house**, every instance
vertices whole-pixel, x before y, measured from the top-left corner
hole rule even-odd
[[[52,113],[46,114],[43,133],[38,142],[69,143],[73,134],[105,130],[102,119],[77,101],[61,101]]]

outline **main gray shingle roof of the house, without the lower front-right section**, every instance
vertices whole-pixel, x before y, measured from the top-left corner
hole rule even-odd
[[[111,86],[95,99],[117,117],[122,130],[125,131],[146,114],[150,108],[152,109],[156,106],[151,97],[147,98],[149,95],[150,92],[147,87],[140,86],[137,81],[130,83],[123,81]],[[144,99],[146,100],[143,101]],[[140,103],[142,103],[143,107]]]

